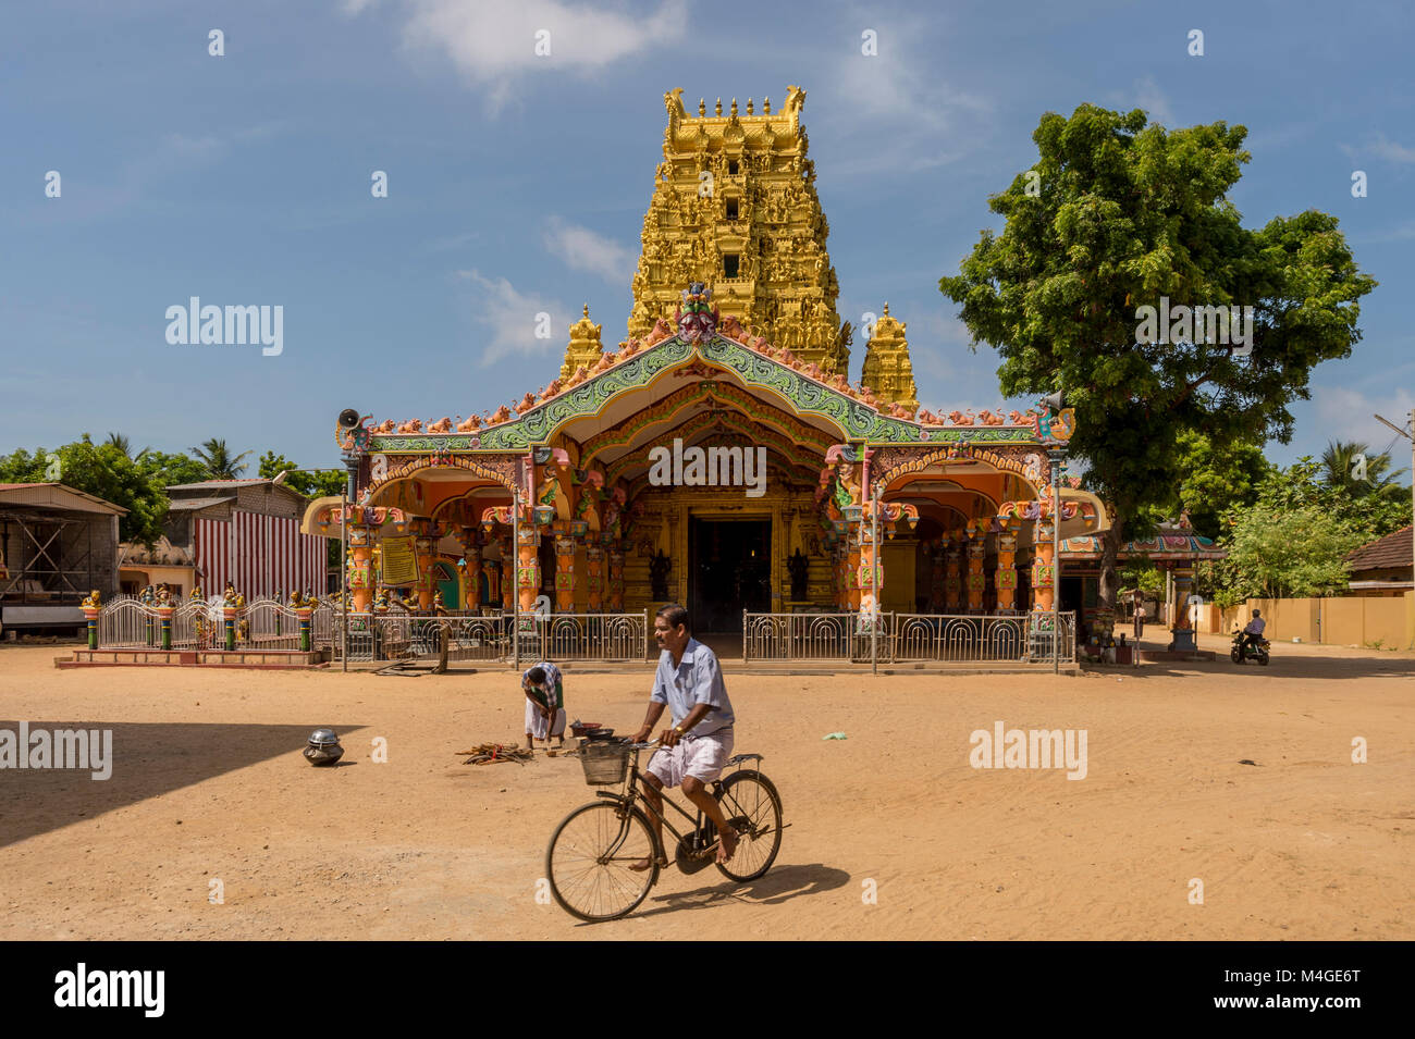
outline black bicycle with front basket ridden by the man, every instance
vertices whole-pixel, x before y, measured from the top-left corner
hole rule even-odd
[[[668,857],[645,809],[678,838],[674,858],[685,874],[716,865],[733,881],[754,881],[771,868],[781,850],[781,796],[757,768],[743,768],[744,762],[760,763],[760,753],[729,758],[727,768],[733,772],[708,787],[722,806],[723,818],[737,833],[732,859],[717,862],[716,827],[702,810],[695,817],[661,790],[664,804],[693,824],[692,830],[679,833],[666,813],[659,814],[640,789],[645,780],[638,755],[655,746],[658,741],[634,744],[621,736],[590,741],[580,751],[586,783],[623,785],[623,790],[596,790],[594,796],[601,800],[577,807],[550,837],[545,852],[546,876],[555,900],[572,916],[590,922],[624,916],[634,912],[658,882]],[[647,868],[634,868],[645,862]]]

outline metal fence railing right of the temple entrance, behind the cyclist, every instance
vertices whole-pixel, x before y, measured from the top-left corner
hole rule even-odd
[[[1013,616],[969,614],[749,614],[741,616],[743,659],[855,663],[1075,663],[1075,614]]]

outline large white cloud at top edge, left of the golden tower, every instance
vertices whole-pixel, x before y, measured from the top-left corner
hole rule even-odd
[[[345,0],[359,14],[374,0]],[[441,51],[499,110],[516,76],[555,69],[584,75],[678,41],[689,25],[686,0],[662,0],[642,16],[562,0],[403,0],[403,42]],[[543,34],[548,33],[549,37]],[[539,34],[539,35],[538,35]],[[549,54],[536,54],[548,40]]]

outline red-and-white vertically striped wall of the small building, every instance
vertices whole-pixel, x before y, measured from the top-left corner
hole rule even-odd
[[[192,520],[192,551],[201,587],[209,598],[231,581],[248,599],[289,595],[291,591],[324,594],[327,539],[300,533],[300,522],[233,509],[231,520]]]

